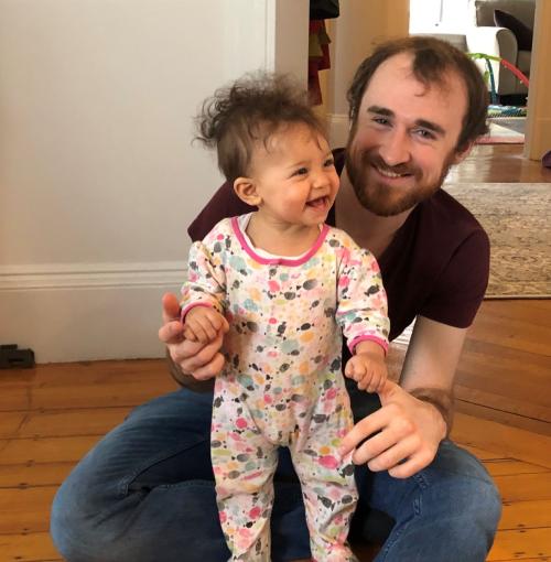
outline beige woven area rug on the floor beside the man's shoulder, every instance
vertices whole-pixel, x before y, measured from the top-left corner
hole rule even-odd
[[[444,184],[488,233],[488,299],[551,298],[551,183]]]

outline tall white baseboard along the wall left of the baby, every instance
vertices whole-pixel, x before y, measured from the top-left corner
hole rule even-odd
[[[0,267],[0,344],[36,363],[161,357],[161,296],[177,292],[183,263]]]

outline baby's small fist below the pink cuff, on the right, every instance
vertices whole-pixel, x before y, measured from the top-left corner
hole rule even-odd
[[[385,355],[383,347],[377,342],[359,342],[354,348],[354,356],[346,364],[345,376],[354,379],[359,390],[381,391],[388,378]]]

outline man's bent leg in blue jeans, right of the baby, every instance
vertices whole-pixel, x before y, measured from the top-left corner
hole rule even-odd
[[[482,464],[454,443],[443,442],[433,463],[410,478],[361,467],[357,479],[360,502],[396,521],[377,562],[486,560],[501,501]]]

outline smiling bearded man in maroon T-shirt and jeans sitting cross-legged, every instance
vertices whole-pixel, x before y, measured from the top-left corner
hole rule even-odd
[[[379,403],[348,385],[356,425],[343,453],[354,451],[357,464],[356,532],[369,531],[366,512],[375,509],[392,519],[378,561],[484,561],[499,497],[482,465],[446,436],[456,365],[487,284],[488,240],[441,185],[485,131],[486,88],[454,47],[409,37],[360,65],[348,100],[350,137],[335,153],[342,187],[331,221],[378,258],[390,338],[415,320],[399,386],[387,383]],[[225,185],[190,233],[202,238],[244,210]],[[137,409],[60,489],[52,533],[69,562],[228,556],[208,456],[224,331],[205,347],[186,342],[176,298],[165,295],[163,307],[160,338],[184,389]],[[306,559],[300,488],[284,450],[276,480],[272,560]]]

